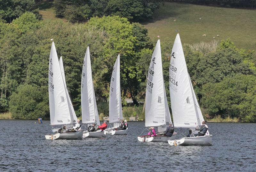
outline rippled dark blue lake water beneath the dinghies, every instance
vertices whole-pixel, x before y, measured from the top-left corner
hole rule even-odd
[[[0,171],[255,171],[256,123],[207,123],[212,146],[139,142],[144,122],[124,136],[46,140],[50,121],[0,120]],[[176,129],[178,137],[187,129]],[[143,134],[146,134],[144,131]]]

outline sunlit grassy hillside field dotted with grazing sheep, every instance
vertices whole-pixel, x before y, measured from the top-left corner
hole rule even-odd
[[[177,33],[182,43],[190,44],[211,41],[213,37],[230,38],[237,48],[243,49],[252,49],[256,42],[256,10],[165,2],[155,11],[151,22],[142,24],[151,39],[159,35],[160,39],[174,40]]]

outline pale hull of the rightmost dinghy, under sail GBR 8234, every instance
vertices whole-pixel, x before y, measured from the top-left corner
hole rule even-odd
[[[168,143],[172,146],[210,146],[212,145],[212,135],[168,140]]]

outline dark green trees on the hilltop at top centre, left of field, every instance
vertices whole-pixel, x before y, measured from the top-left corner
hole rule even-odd
[[[54,0],[56,14],[71,22],[108,15],[138,21],[150,18],[158,6],[159,2],[156,0]]]

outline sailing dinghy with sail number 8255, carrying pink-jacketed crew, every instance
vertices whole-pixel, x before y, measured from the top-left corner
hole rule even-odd
[[[163,132],[166,130],[166,123],[169,124],[172,121],[164,87],[160,40],[156,43],[148,69],[145,101],[145,126],[157,127],[158,133],[156,137],[138,136],[138,140],[141,142],[167,142],[174,138],[176,132],[172,137],[164,135]]]

